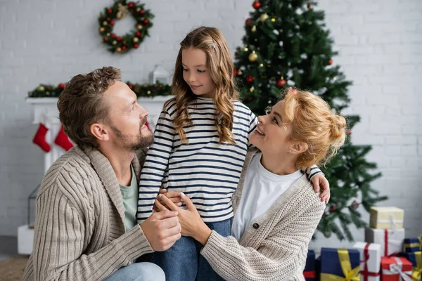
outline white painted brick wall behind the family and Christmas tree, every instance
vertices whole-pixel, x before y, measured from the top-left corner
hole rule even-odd
[[[37,126],[27,91],[102,65],[120,67],[124,80],[148,81],[155,64],[172,70],[179,41],[198,25],[219,27],[234,52],[252,9],[247,0],[143,2],[155,14],[151,37],[138,50],[112,55],[101,44],[96,18],[113,1],[0,0],[0,235],[16,235],[25,223],[27,195],[43,172],[43,152],[31,143]],[[354,81],[345,113],[360,115],[362,123],[352,140],[373,145],[368,158],[384,174],[373,186],[390,195],[383,205],[403,208],[408,235],[421,233],[422,1],[321,0],[318,7],[340,52],[334,63]],[[130,20],[115,28],[129,27]],[[353,233],[363,240],[363,231]],[[327,245],[321,235],[312,242]]]

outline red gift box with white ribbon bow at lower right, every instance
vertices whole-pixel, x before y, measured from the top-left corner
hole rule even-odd
[[[411,262],[403,257],[385,256],[381,259],[383,281],[413,281]]]

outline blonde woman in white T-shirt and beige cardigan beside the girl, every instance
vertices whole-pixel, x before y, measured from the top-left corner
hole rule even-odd
[[[258,120],[250,136],[258,150],[248,152],[232,198],[232,236],[209,228],[184,192],[179,195],[187,209],[159,197],[179,212],[182,235],[200,243],[200,254],[224,280],[305,280],[308,244],[325,204],[301,168],[335,155],[346,122],[318,96],[291,88]]]

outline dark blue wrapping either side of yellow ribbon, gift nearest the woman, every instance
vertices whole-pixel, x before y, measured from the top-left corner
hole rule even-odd
[[[357,249],[347,249],[350,259],[351,268],[357,268],[360,266],[360,253]],[[338,258],[338,249],[333,248],[322,248],[321,249],[321,274],[328,273],[345,277],[343,270],[340,265],[340,259]],[[321,275],[321,280],[324,278]]]

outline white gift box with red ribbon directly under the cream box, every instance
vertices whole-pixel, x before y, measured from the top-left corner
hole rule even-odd
[[[403,251],[404,228],[402,229],[375,229],[366,228],[365,242],[381,245],[381,256]]]

